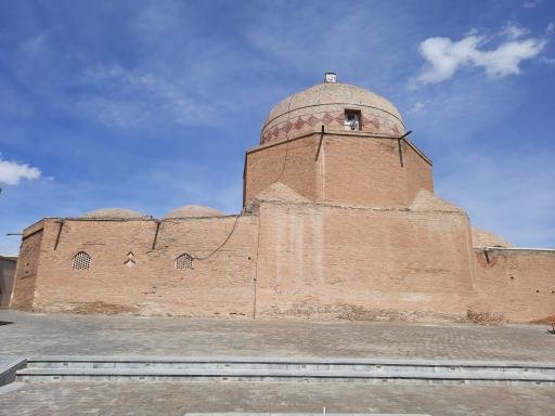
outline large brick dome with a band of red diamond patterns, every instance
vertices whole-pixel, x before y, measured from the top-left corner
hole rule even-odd
[[[404,133],[399,110],[383,96],[347,83],[324,82],[273,107],[263,123],[260,144],[320,131],[321,126],[326,130],[345,130],[345,115],[349,110],[359,115],[362,132],[396,136]]]

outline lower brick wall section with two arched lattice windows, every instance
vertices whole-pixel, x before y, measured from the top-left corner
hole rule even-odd
[[[210,255],[235,220],[162,221],[155,248],[155,221],[66,220],[55,250],[56,227],[42,242],[35,310],[251,316],[256,217],[242,217],[228,244],[209,259],[194,260],[194,270],[175,268],[181,253]],[[90,270],[72,269],[79,251],[91,256]],[[125,264],[129,259],[132,266]]]

